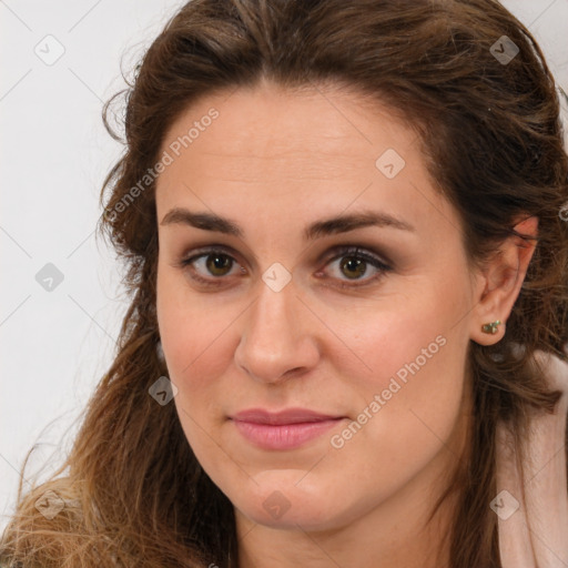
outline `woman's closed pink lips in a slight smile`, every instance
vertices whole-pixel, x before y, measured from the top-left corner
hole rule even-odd
[[[264,449],[293,449],[335,426],[344,416],[332,416],[303,408],[270,413],[261,408],[232,416],[239,432]]]

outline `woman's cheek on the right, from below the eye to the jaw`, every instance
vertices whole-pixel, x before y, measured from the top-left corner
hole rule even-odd
[[[355,424],[332,444],[354,463],[372,447],[374,457],[366,463],[376,474],[387,478],[394,464],[410,473],[452,437],[463,409],[469,342],[464,290],[416,282],[415,293],[355,314],[349,337],[357,357],[342,373],[348,377],[342,392],[356,393]]]

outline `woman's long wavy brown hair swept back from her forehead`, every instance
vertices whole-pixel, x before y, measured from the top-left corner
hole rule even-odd
[[[510,61],[499,60],[513,44],[518,53],[509,49]],[[174,405],[156,408],[149,396],[168,374],[156,355],[158,223],[149,172],[164,133],[192,102],[261,79],[290,89],[342,84],[397,111],[416,129],[433,180],[460,215],[473,265],[515,234],[519,215],[539,219],[505,337],[490,347],[469,345],[475,459],[448,488],[460,496],[452,566],[500,566],[489,508],[496,425],[510,420],[519,443],[529,412],[554,412],[559,393],[547,390],[532,356],[542,349],[567,359],[568,156],[544,55],[494,0],[193,0],[169,20],[129,88],[103,109],[119,139],[106,116],[125,97],[125,150],[104,181],[98,226],[126,268],[131,303],[118,352],[67,462],[23,496],[20,484],[1,559],[42,568],[236,566],[232,504],[202,470]],[[34,507],[47,490],[65,504],[52,519]]]

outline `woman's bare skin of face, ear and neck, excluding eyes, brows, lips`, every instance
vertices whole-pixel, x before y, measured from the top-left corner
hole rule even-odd
[[[156,183],[158,317],[187,442],[235,507],[240,566],[446,566],[442,537],[455,496],[426,521],[467,450],[468,345],[503,337],[534,247],[509,240],[474,270],[416,133],[378,102],[263,82],[192,104],[162,151],[212,106],[219,118]],[[375,165],[387,149],[406,162],[393,179]],[[244,235],[162,224],[173,207],[229,217]],[[307,224],[362,210],[415,230],[367,226],[303,241]],[[537,221],[517,229],[536,234]],[[217,287],[179,265],[207,245],[232,247],[223,251],[234,258],[225,268],[212,273],[206,256],[193,264],[193,274],[222,281]],[[358,245],[392,270],[373,280],[381,271],[367,263],[357,276],[342,268],[348,253],[329,254],[337,245]],[[280,292],[262,278],[276,262],[292,276]],[[481,333],[495,320],[504,322],[498,333]],[[444,346],[333,447],[332,436],[439,336]],[[291,450],[253,446],[229,418],[292,406],[345,418]],[[271,495],[288,507],[277,518],[263,506]]]

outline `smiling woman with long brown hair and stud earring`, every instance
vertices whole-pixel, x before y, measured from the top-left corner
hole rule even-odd
[[[125,142],[130,310],[9,566],[568,564],[568,156],[528,30],[194,0]]]

